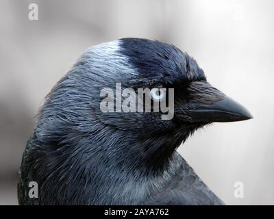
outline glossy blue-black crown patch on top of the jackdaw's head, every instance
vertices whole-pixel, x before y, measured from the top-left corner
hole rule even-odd
[[[139,77],[150,83],[174,86],[206,80],[197,62],[171,44],[138,38],[123,38],[121,42],[121,53],[138,70]]]

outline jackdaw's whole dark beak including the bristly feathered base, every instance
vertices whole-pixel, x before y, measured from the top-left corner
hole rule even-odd
[[[208,82],[195,82],[190,85],[190,104],[184,116],[190,123],[235,122],[253,118],[240,103],[229,98]]]

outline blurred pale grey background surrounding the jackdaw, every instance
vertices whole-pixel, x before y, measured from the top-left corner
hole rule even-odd
[[[29,21],[29,3],[38,21]],[[179,147],[228,205],[274,204],[274,1],[0,1],[0,205],[16,178],[43,98],[86,49],[123,37],[158,39],[195,57],[208,81],[253,120],[215,123]],[[244,198],[234,197],[234,183]]]

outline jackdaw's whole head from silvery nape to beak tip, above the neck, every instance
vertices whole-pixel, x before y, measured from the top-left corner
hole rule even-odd
[[[149,100],[138,99],[145,96],[138,89],[145,88]],[[157,112],[153,104],[162,99],[168,110]],[[146,109],[141,102],[148,101]],[[196,129],[249,118],[245,107],[208,83],[187,53],[156,40],[123,38],[79,58],[47,96],[37,135],[59,146],[77,145],[75,153],[101,151],[157,166]]]

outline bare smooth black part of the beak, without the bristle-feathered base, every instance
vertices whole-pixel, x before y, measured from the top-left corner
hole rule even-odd
[[[245,107],[228,96],[210,105],[195,104],[195,109],[188,110],[187,115],[190,116],[192,123],[225,123],[253,118]]]

